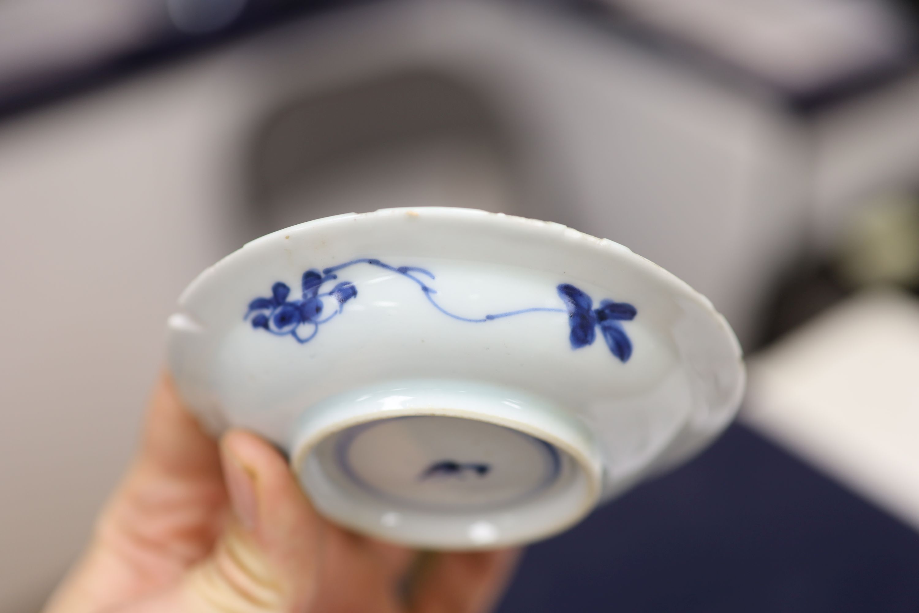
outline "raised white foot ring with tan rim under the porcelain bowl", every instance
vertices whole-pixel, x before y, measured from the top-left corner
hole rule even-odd
[[[414,472],[414,487],[406,487],[414,502],[397,500],[384,480],[346,478],[347,471],[335,461],[338,437],[354,427],[385,428],[418,415],[448,423],[439,430],[436,424],[423,432],[403,429],[403,440],[391,439],[385,455],[380,453],[380,465],[409,465],[391,477]],[[450,422],[477,423],[457,428]],[[314,404],[289,430],[297,434],[289,444],[291,465],[320,512],[349,528],[415,547],[468,549],[546,537],[589,513],[602,489],[597,438],[581,419],[539,396],[492,384],[387,381]],[[532,453],[510,456],[519,449],[507,444],[507,432],[513,431],[518,438],[538,438],[557,455],[551,479],[538,478],[541,469],[531,464]],[[504,482],[505,492],[485,495],[481,485],[471,488],[466,479],[478,480],[472,475],[418,479],[425,467],[443,459],[487,462],[492,469],[487,481]],[[390,490],[389,495],[370,495],[366,485],[384,493]],[[471,496],[475,490],[482,495]],[[459,503],[459,498],[464,501]]]

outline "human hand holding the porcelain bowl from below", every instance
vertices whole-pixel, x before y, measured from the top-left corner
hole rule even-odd
[[[417,551],[319,517],[275,448],[241,430],[213,441],[164,378],[138,457],[44,613],[480,613],[516,551],[423,559],[412,573]]]

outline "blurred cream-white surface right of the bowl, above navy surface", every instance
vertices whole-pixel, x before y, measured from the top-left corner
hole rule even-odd
[[[919,529],[919,301],[857,295],[752,359],[743,420]]]

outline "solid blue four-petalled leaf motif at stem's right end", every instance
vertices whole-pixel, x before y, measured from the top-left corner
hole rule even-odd
[[[596,327],[599,327],[613,355],[622,362],[628,362],[631,358],[632,344],[619,322],[630,322],[635,319],[638,310],[628,302],[610,300],[600,301],[600,306],[594,309],[591,297],[568,283],[562,283],[558,291],[568,308],[572,348],[580,349],[593,345]]]

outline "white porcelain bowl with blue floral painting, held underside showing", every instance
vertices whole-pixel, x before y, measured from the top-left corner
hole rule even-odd
[[[743,361],[708,300],[556,223],[391,209],[268,234],[169,319],[215,435],[289,454],[313,504],[433,549],[542,539],[728,424]]]

